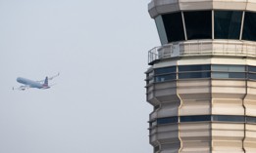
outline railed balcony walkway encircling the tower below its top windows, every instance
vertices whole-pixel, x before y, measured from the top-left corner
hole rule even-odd
[[[169,57],[185,56],[256,57],[256,43],[252,42],[182,42],[155,47],[148,52],[148,63]]]

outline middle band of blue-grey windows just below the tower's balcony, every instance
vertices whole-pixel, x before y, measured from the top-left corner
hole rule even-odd
[[[177,79],[236,79],[256,80],[256,66],[250,65],[179,65],[155,68],[152,76],[147,77],[147,84],[176,81]]]

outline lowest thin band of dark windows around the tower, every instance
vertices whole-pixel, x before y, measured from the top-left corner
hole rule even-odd
[[[150,127],[172,123],[184,122],[232,122],[232,123],[251,123],[256,124],[256,117],[236,116],[236,115],[195,115],[195,116],[173,116],[158,118],[149,122]]]

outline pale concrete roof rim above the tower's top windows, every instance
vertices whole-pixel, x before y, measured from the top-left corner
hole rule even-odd
[[[148,4],[151,18],[192,10],[240,10],[256,12],[256,0],[152,0]]]

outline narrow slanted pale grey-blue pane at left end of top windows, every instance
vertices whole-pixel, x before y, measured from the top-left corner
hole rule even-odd
[[[155,19],[156,22],[156,26],[157,26],[157,31],[158,31],[158,35],[161,41],[161,44],[167,44],[168,40],[167,40],[167,35],[166,35],[166,30],[165,30],[165,25],[162,19],[162,16],[158,16]]]

